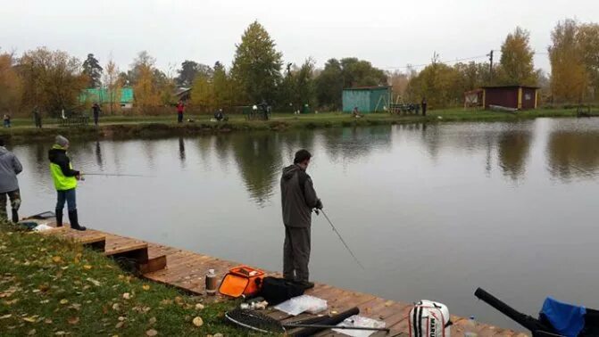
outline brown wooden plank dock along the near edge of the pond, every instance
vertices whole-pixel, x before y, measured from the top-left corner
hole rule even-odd
[[[53,226],[54,222],[37,220]],[[76,242],[80,242],[97,251],[103,251],[104,255],[114,259],[129,261],[137,270],[137,273],[148,280],[169,284],[182,291],[204,296],[204,275],[208,269],[215,269],[220,277],[227,273],[229,268],[241,265],[241,263],[218,259],[211,256],[199,254],[193,251],[183,251],[161,244],[144,242],[129,237],[105,233],[93,229],[85,232],[71,230],[67,224],[60,228],[49,229],[43,234],[62,236]],[[269,275],[279,275],[269,273]],[[316,284],[315,287],[306,292],[309,295],[327,300],[328,311],[342,312],[348,308],[360,308],[360,315],[382,320],[391,329],[388,336],[408,336],[408,313],[411,305],[394,300],[385,300],[377,296],[361,292],[352,292],[339,289],[328,284]],[[216,296],[211,300],[227,300],[227,298]],[[451,308],[450,308],[451,309]],[[306,318],[306,315],[287,316],[275,309],[268,309],[269,316],[279,320],[291,322],[295,319]],[[466,318],[452,316],[452,336],[463,336],[463,325]],[[478,324],[478,337],[486,336],[526,336],[512,330],[502,329],[493,325]],[[330,330],[320,333],[318,336],[341,336]],[[385,336],[386,333],[374,333],[372,336]]]

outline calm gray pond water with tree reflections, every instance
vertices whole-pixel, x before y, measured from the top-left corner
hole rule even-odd
[[[46,152],[13,144],[21,214],[54,210]],[[282,267],[279,175],[299,148],[329,218],[312,218],[312,278],[387,299],[445,302],[515,327],[481,286],[537,315],[545,296],[599,308],[599,119],[254,132],[71,144],[76,168],[151,175],[79,185],[82,224]]]

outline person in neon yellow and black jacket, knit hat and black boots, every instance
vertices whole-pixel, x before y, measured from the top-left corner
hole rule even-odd
[[[54,187],[58,195],[56,202],[56,226],[62,226],[62,210],[66,201],[69,210],[69,221],[71,228],[85,231],[86,227],[79,225],[77,214],[77,181],[81,179],[81,173],[73,169],[71,159],[67,156],[69,140],[63,136],[56,136],[55,144],[48,152],[50,159],[50,173],[54,180]]]

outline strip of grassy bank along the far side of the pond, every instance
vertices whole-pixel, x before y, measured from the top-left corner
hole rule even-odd
[[[599,116],[599,111],[594,111]],[[388,113],[366,114],[355,119],[351,114],[325,112],[293,115],[274,114],[269,121],[245,120],[231,115],[227,122],[212,122],[210,116],[186,116],[185,123],[176,123],[176,116],[105,116],[100,127],[60,127],[55,119],[48,119],[45,127],[33,127],[29,119],[14,119],[12,128],[3,128],[0,135],[16,142],[50,140],[57,133],[73,138],[135,138],[151,136],[188,136],[202,133],[220,133],[247,130],[286,130],[289,128],[356,127],[404,123],[442,123],[452,121],[511,121],[539,117],[576,117],[575,109],[539,109],[506,113],[495,111],[465,111],[463,109],[429,111],[425,116],[397,116]]]

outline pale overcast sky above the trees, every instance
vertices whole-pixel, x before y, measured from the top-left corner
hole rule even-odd
[[[258,20],[285,62],[355,56],[384,69],[482,56],[516,26],[546,53],[557,21],[599,21],[599,0],[4,0],[0,47],[46,45],[84,60],[110,55],[121,70],[147,50],[164,71],[184,60],[230,65],[244,29]],[[484,61],[484,58],[476,59]],[[536,66],[549,70],[546,54]]]

